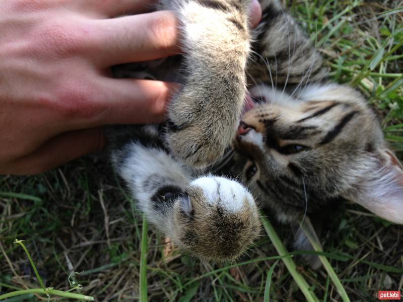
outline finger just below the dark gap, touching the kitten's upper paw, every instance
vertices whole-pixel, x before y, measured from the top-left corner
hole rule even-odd
[[[65,118],[68,129],[92,128],[106,124],[149,124],[164,120],[166,106],[178,85],[151,80],[100,78],[99,91],[91,102],[91,113],[75,110]]]

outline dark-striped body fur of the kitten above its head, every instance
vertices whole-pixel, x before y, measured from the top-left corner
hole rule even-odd
[[[254,31],[248,83],[300,89],[325,78],[320,54],[279,1],[262,0],[260,4],[262,20]]]

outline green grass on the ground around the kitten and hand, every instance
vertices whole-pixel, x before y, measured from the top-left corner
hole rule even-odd
[[[403,12],[398,3],[298,0],[288,1],[288,7],[321,49],[333,80],[366,96],[401,159]],[[351,203],[333,213],[320,236],[324,252],[318,254],[327,259],[327,270],[313,271],[300,253],[287,253],[290,229],[270,213],[270,232],[281,241],[262,233],[236,263],[217,266],[181,255],[154,228],[147,231],[104,155],[34,177],[0,177],[0,213],[0,294],[41,288],[24,250],[14,244],[17,238],[25,240],[45,288],[68,291],[69,276],[82,272],[76,275],[83,285],[78,293],[96,300],[304,301],[300,288],[307,287],[321,301],[340,301],[341,285],[352,301],[376,301],[378,290],[403,286],[403,226]],[[284,255],[275,245],[283,246]],[[295,267],[289,270],[285,259]],[[22,299],[38,300],[32,293]]]

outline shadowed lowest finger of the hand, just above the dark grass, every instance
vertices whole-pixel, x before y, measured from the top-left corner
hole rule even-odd
[[[47,141],[34,153],[2,165],[0,174],[32,175],[100,150],[106,143],[101,128],[76,130]]]

